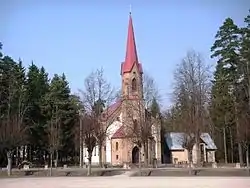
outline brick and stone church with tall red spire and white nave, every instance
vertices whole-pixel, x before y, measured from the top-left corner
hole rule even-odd
[[[103,112],[108,116],[108,129],[106,141],[103,144],[102,162],[108,165],[124,165],[131,163],[145,162],[145,152],[147,160],[152,163],[153,160],[161,161],[161,136],[160,122],[157,118],[145,109],[143,99],[143,81],[142,81],[142,64],[139,62],[135,34],[132,22],[132,15],[129,15],[126,55],[124,62],[120,67],[121,74],[121,97],[120,100]],[[133,105],[131,105],[133,104]],[[130,108],[128,108],[130,106]],[[131,108],[133,106],[133,108]],[[130,110],[128,110],[130,109]],[[142,110],[138,110],[142,109]],[[140,113],[138,113],[140,112]],[[150,116],[150,139],[147,142],[147,148],[135,144],[127,137],[128,127],[131,123],[131,114],[133,121],[139,121],[141,118]],[[146,115],[147,114],[147,115]],[[146,121],[143,121],[146,122]],[[140,152],[140,155],[139,155]],[[83,149],[84,162],[87,162],[87,149]],[[139,157],[140,156],[140,157]],[[98,146],[92,153],[92,164],[99,163]]]

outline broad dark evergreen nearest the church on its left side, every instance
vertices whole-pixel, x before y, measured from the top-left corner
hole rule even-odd
[[[77,108],[70,96],[70,88],[65,75],[54,75],[49,86],[49,92],[44,98],[43,111],[47,119],[46,130],[51,156],[59,150],[61,157],[67,157],[74,152],[74,123]],[[53,130],[52,130],[53,129]]]

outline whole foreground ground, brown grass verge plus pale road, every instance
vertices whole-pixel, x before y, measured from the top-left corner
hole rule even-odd
[[[0,187],[3,188],[249,188],[250,178],[246,169],[236,168],[201,168],[196,169],[196,176],[190,176],[185,168],[142,169],[99,169],[93,168],[93,176],[86,177],[87,169],[67,168],[54,169],[53,175],[47,177],[48,170],[33,169],[33,174],[25,175],[24,171],[15,169],[13,176],[6,177],[6,171],[0,171]],[[74,177],[70,177],[74,176]],[[85,176],[85,177],[84,177]],[[102,177],[97,177],[102,176]],[[106,177],[105,177],[106,176]],[[109,176],[109,177],[108,177]],[[147,176],[147,177],[145,177]]]

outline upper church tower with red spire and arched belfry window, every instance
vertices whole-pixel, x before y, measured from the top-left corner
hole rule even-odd
[[[139,63],[131,12],[125,61],[121,64],[122,99],[143,99],[142,66]]]

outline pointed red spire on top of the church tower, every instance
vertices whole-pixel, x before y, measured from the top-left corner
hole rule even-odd
[[[137,56],[136,44],[135,44],[135,36],[134,36],[134,28],[133,28],[132,16],[130,13],[126,57],[125,57],[125,61],[122,63],[121,74],[130,72],[134,65],[137,65],[140,73],[142,73],[141,64],[138,62],[138,56]]]

